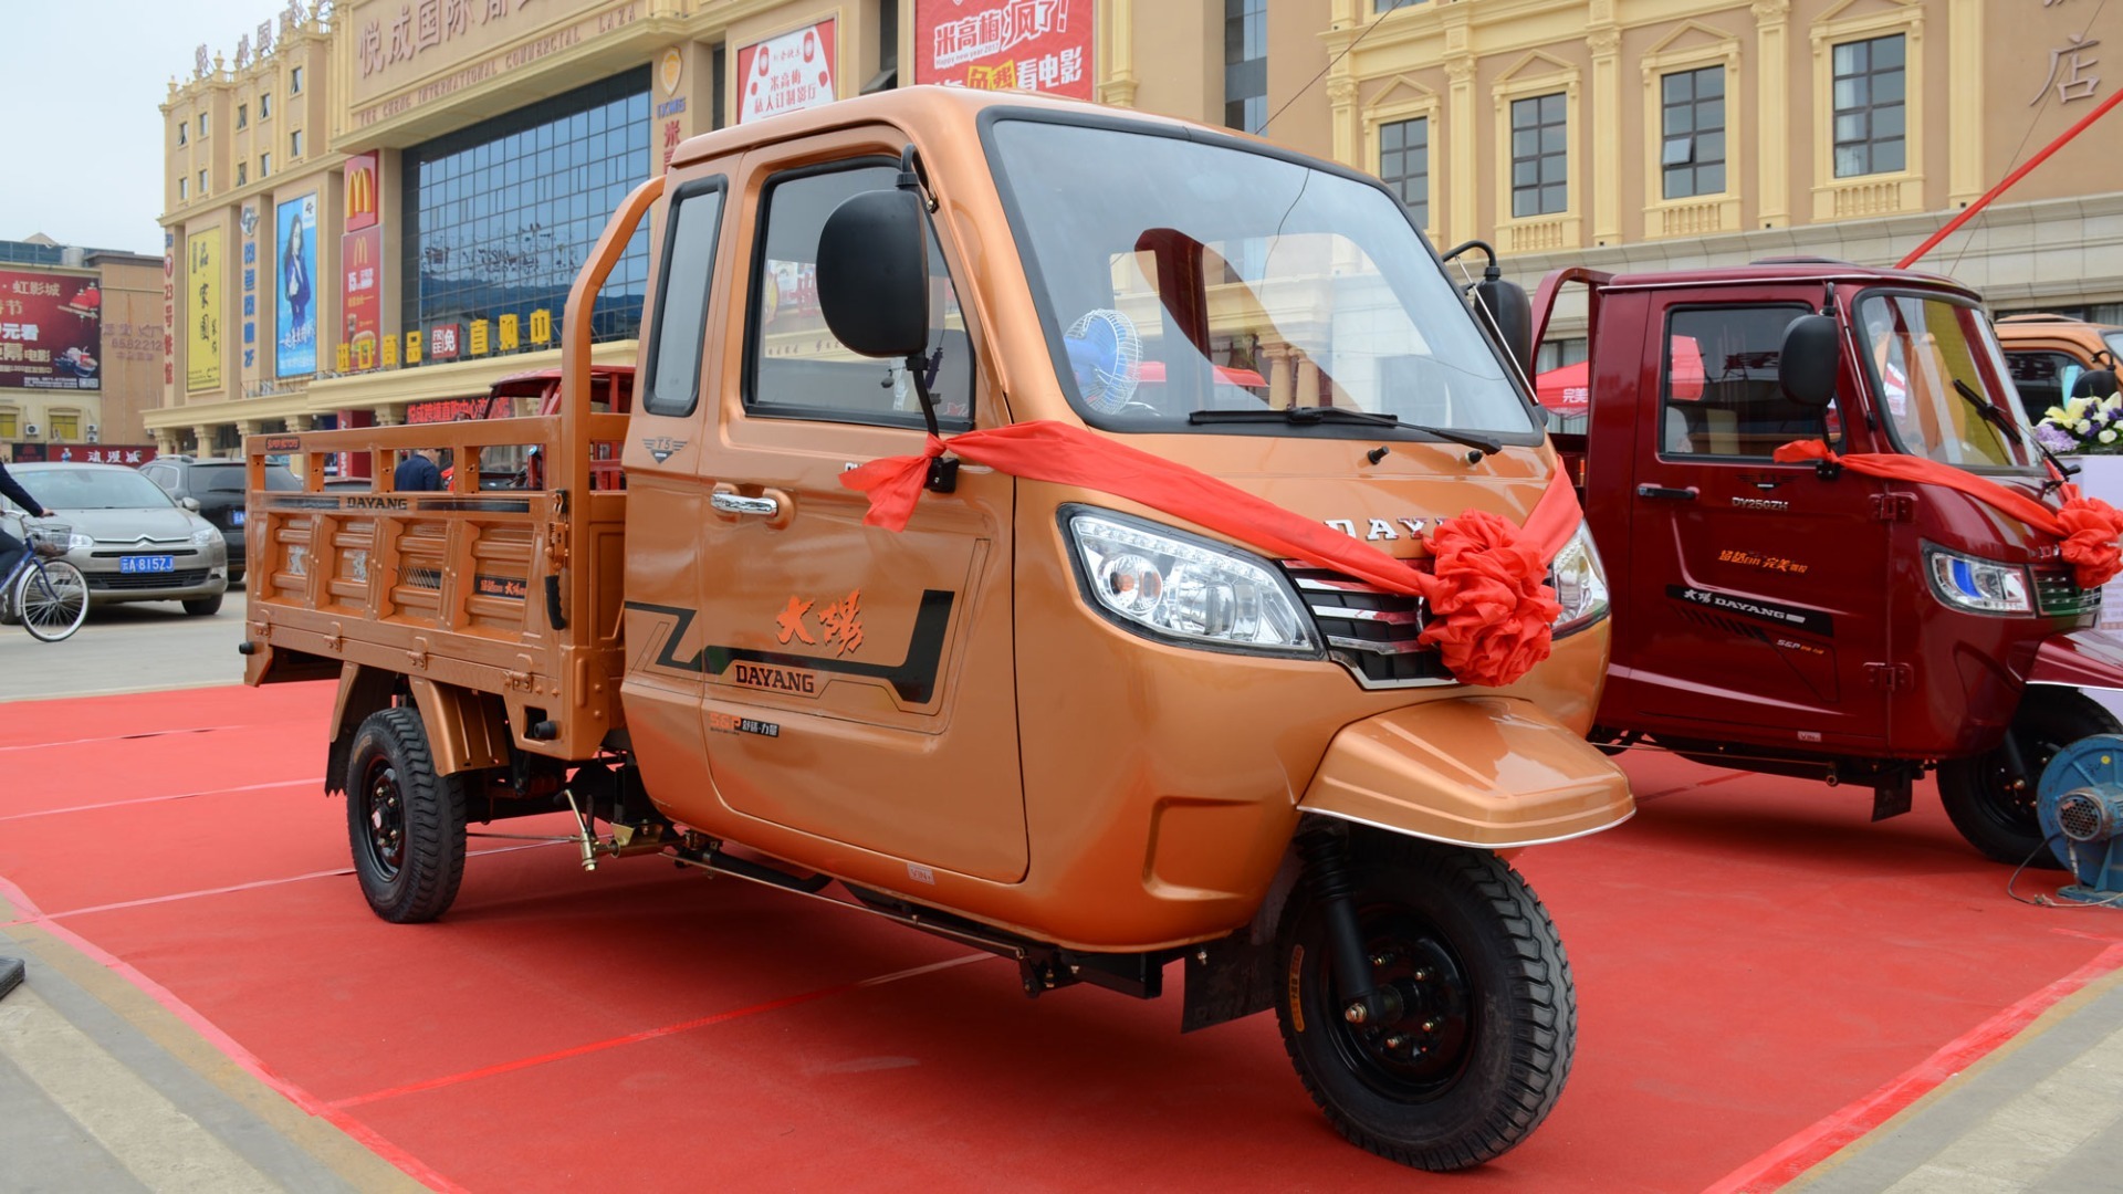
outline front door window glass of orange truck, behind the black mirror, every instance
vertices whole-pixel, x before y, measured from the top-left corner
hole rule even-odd
[[[898,164],[881,159],[792,170],[769,183],[745,331],[747,412],[924,427],[907,363],[862,357],[841,344],[817,306],[817,238],[826,217],[849,195],[892,189],[896,183]],[[934,227],[928,246],[926,380],[936,399],[936,419],[945,427],[966,429],[972,425],[972,340],[936,249]]]

